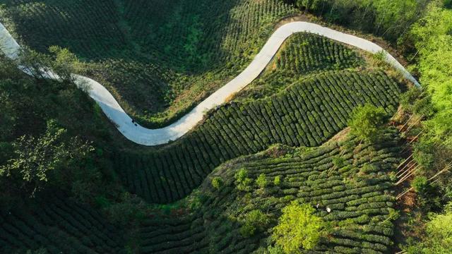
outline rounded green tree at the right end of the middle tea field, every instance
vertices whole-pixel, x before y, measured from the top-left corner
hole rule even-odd
[[[353,109],[348,125],[353,135],[362,140],[375,142],[380,137],[386,121],[388,121],[388,114],[383,108],[364,104]]]

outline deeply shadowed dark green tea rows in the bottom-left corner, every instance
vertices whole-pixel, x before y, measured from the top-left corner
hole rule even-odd
[[[48,253],[121,253],[121,230],[86,205],[67,197],[27,200],[27,205],[0,211],[0,252],[25,253],[47,249]]]

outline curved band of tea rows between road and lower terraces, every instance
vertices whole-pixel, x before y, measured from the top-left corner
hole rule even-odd
[[[278,95],[225,104],[186,137],[148,152],[118,151],[115,169],[132,193],[150,202],[183,198],[215,167],[269,145],[318,146],[347,126],[352,110],[374,104],[393,112],[400,89],[381,72],[315,75]]]

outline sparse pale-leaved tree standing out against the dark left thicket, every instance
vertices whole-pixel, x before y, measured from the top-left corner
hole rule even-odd
[[[38,138],[23,135],[13,142],[14,155],[0,167],[0,176],[19,175],[26,191],[34,195],[49,180],[49,173],[60,169],[65,162],[84,157],[93,147],[78,138],[66,140],[66,130],[59,128],[53,120],[48,121],[47,130]]]

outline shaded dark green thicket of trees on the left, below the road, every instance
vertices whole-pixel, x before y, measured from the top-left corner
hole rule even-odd
[[[103,193],[113,179],[102,155],[110,137],[100,107],[69,82],[32,78],[0,61],[1,209],[52,186],[82,200]]]

